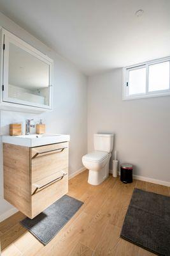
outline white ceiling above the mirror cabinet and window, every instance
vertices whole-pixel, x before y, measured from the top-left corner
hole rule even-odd
[[[0,10],[87,75],[170,55],[170,0],[0,0]]]

